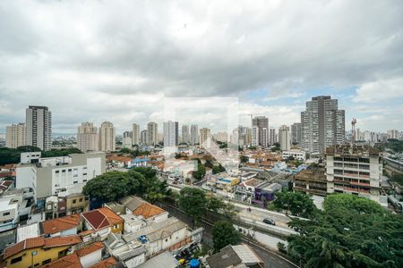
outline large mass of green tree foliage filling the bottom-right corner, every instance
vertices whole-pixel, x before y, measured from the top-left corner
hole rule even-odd
[[[402,267],[403,219],[364,197],[335,194],[311,221],[288,224],[287,253],[304,267]]]

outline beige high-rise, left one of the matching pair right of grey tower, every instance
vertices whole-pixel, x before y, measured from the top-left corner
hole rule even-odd
[[[83,153],[99,150],[98,128],[93,123],[82,122],[77,128],[77,147]]]

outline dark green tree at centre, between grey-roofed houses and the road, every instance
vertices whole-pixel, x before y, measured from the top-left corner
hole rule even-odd
[[[199,188],[185,187],[179,193],[179,208],[192,217],[194,222],[200,219],[203,210],[206,208],[206,203],[205,193]]]

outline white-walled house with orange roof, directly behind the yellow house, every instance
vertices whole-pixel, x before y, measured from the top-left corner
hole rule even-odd
[[[81,230],[81,217],[79,214],[67,215],[53,220],[40,222],[42,234],[46,237],[75,235]]]

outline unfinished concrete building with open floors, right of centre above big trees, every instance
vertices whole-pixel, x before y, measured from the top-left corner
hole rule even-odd
[[[350,193],[380,202],[382,162],[373,147],[337,145],[326,151],[328,193]]]

